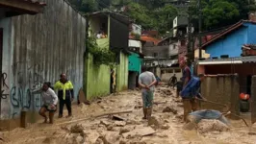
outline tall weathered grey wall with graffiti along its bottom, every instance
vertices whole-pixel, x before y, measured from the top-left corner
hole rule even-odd
[[[1,119],[21,110],[38,113],[41,97],[32,93],[44,81],[67,73],[75,96],[83,86],[86,19],[64,0],[46,0],[44,13],[0,20],[4,28]],[[35,121],[32,116],[30,122]]]

